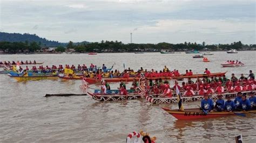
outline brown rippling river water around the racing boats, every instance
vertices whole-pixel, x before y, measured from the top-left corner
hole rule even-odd
[[[203,73],[208,68],[212,73],[228,71],[248,74],[256,71],[256,52],[212,52],[207,55],[211,61],[193,59],[195,54],[160,53],[100,53],[87,54],[32,54],[0,55],[0,60],[36,60],[48,65],[87,66],[94,63],[101,66],[123,70],[132,69],[161,70],[166,65],[170,70],[179,69],[185,73]],[[223,68],[220,63],[226,60],[241,60],[244,67]],[[23,66],[24,67],[24,66]],[[248,76],[248,75],[245,75]],[[82,94],[81,81],[42,80],[17,82],[6,75],[0,75],[0,142],[125,142],[127,134],[143,130],[157,142],[234,142],[236,135],[242,134],[246,142],[256,140],[256,116],[232,116],[201,120],[176,120],[160,107],[177,109],[174,104],[151,104],[145,99],[134,101],[99,102],[89,96],[44,97],[45,94]],[[117,88],[111,84],[111,89]],[[97,88],[97,85],[92,85]],[[127,83],[130,87],[131,83]],[[200,102],[183,103],[185,108],[196,108]]]

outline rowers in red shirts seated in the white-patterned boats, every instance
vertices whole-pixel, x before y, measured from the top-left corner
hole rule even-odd
[[[161,97],[169,98],[172,97],[173,91],[176,90],[176,86],[179,91],[184,92],[183,96],[212,94],[220,95],[224,94],[225,92],[232,93],[256,90],[256,81],[254,80],[254,76],[249,77],[249,80],[247,77],[240,77],[237,81],[234,81],[232,77],[231,79],[227,79],[224,75],[223,78],[211,77],[212,80],[210,80],[207,76],[205,76],[202,80],[197,78],[196,82],[193,82],[190,78],[188,78],[188,81],[186,83],[183,82],[181,86],[178,84],[178,81],[175,81],[173,87],[170,87],[170,83],[167,81],[167,78],[164,80],[159,78],[154,81],[145,78],[145,82],[147,83],[147,89],[149,89],[149,93],[151,95],[160,95]],[[121,81],[120,85],[123,84],[124,82]],[[136,89],[138,84],[138,81],[134,79],[131,89]],[[109,87],[109,84],[107,86]],[[121,86],[119,88],[121,88]]]

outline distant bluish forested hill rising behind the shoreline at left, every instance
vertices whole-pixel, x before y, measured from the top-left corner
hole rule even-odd
[[[58,42],[58,41],[51,41],[45,38],[38,37],[36,34],[29,34],[29,33],[6,33],[6,32],[0,32],[0,41],[9,41],[9,42],[41,42],[41,46],[48,46],[48,47],[56,47],[56,46],[66,46],[68,42]],[[73,45],[77,44],[88,44],[90,42],[83,41],[83,42],[77,42],[73,43]]]

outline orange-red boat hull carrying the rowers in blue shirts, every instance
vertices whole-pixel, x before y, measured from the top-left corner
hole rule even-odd
[[[171,110],[168,108],[162,108],[167,113],[170,113],[173,117],[178,120],[191,120],[191,119],[205,119],[205,118],[217,118],[217,117],[225,117],[225,116],[233,116],[239,114],[246,113],[256,113],[256,110],[247,111],[235,111],[235,112],[207,112],[201,111],[198,109],[185,109],[184,111],[179,110]]]

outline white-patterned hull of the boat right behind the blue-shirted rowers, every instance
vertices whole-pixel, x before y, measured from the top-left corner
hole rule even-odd
[[[243,94],[249,95],[251,91],[243,91]],[[253,91],[255,92],[255,90]],[[175,95],[175,94],[174,94]],[[180,94],[181,97],[181,101],[182,102],[194,102],[194,101],[201,101],[202,99],[204,99],[203,95],[196,95],[195,96],[191,96],[191,97],[183,97],[183,92],[181,92]],[[232,93],[224,93],[222,94],[223,98],[226,98],[227,96],[231,96],[231,97],[236,97],[237,96],[237,92],[232,92]],[[213,94],[210,95],[210,98],[212,99],[218,99],[218,94]],[[171,97],[171,98],[166,98],[166,97],[152,97],[150,96],[146,96],[146,100],[150,103],[153,104],[163,104],[163,103],[177,103],[178,102],[178,98],[176,97]]]

